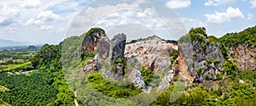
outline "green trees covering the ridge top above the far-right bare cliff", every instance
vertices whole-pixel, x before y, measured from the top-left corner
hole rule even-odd
[[[237,44],[247,44],[248,46],[256,47],[256,26],[247,28],[239,33],[228,33],[218,39],[218,42],[223,43],[230,48]]]

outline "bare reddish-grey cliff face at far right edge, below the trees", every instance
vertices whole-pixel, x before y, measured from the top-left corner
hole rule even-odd
[[[240,70],[256,70],[256,48],[238,44],[230,48],[230,59]]]

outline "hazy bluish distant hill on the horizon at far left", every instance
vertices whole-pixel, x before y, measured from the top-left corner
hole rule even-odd
[[[15,42],[11,40],[0,39],[0,47],[14,47],[14,46],[26,46],[32,45],[33,42]]]

